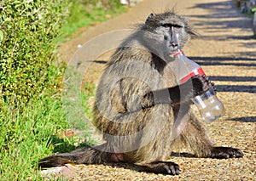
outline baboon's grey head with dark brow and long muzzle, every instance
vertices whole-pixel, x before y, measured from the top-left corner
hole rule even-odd
[[[148,48],[166,61],[173,60],[177,48],[182,49],[194,34],[188,20],[171,12],[150,14],[143,30]]]

